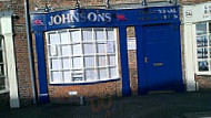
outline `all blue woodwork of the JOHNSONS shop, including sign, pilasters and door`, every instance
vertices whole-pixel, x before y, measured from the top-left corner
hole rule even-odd
[[[123,96],[131,95],[125,31],[129,25],[135,29],[139,94],[149,90],[183,90],[178,6],[117,10],[71,9],[31,13],[30,17],[31,31],[36,33],[40,103],[48,103],[43,33],[71,28],[119,28]],[[145,56],[149,56],[149,63],[144,63]],[[163,67],[154,67],[152,61],[163,62]]]

